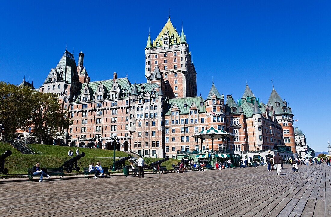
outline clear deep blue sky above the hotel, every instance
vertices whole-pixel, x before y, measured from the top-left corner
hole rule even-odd
[[[183,22],[197,70],[198,94],[212,78],[219,92],[242,96],[246,81],[266,103],[275,89],[292,107],[307,144],[327,151],[331,139],[329,1],[2,1],[0,80],[42,84],[65,51],[85,54],[91,80],[128,74],[145,82],[147,36]],[[323,112],[322,112],[323,111]],[[323,115],[322,115],[323,114]]]

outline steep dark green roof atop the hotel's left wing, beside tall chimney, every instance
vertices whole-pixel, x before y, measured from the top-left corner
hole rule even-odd
[[[67,70],[67,66],[69,66]],[[69,51],[65,51],[62,55],[59,63],[56,65],[55,68],[52,68],[51,71],[48,73],[44,83],[49,82],[49,78],[51,78],[53,73],[58,73],[62,70],[63,72],[63,80],[71,83],[73,77],[77,74],[77,66],[73,55]]]

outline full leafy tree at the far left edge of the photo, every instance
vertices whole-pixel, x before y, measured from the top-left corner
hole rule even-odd
[[[33,109],[31,88],[0,82],[0,123],[4,139],[15,138],[16,130],[25,130]]]

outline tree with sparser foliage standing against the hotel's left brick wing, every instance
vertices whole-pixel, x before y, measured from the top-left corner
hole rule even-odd
[[[31,120],[38,143],[47,137],[63,136],[64,129],[71,125],[68,110],[63,110],[58,98],[51,93],[35,92]]]

